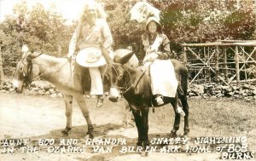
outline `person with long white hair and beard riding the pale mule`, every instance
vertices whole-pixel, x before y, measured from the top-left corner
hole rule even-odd
[[[98,55],[96,50],[101,48],[101,45],[108,49],[108,53],[111,53],[111,45],[113,38],[109,30],[108,24],[105,20],[106,14],[102,7],[95,2],[86,3],[83,14],[79,20],[73,37],[69,44],[68,58],[71,58],[76,50],[76,46],[79,47],[79,52],[87,54],[92,52],[92,55],[88,55],[90,60],[94,60]],[[90,48],[88,50],[87,48]],[[86,50],[87,49],[87,50]],[[87,53],[86,53],[87,52]],[[89,61],[90,61],[89,60]],[[104,66],[86,66],[90,72],[90,95],[97,95],[97,107],[102,106],[103,103],[103,84],[102,84],[102,72]],[[75,64],[75,88],[83,89],[83,78],[85,68],[83,66]]]

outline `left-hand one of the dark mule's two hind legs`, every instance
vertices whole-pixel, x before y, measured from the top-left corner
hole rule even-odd
[[[177,96],[174,99],[172,99],[172,101],[171,101],[173,110],[175,112],[174,125],[173,125],[173,129],[171,131],[171,134],[170,134],[171,137],[177,137],[177,130],[179,129],[179,124],[180,124],[180,115],[176,112],[177,101],[178,101]]]

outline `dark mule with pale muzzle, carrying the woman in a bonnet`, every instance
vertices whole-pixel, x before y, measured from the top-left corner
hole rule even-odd
[[[104,53],[104,52],[103,52]],[[110,101],[118,101],[118,90],[122,90],[125,100],[128,101],[131,112],[134,115],[138,132],[138,146],[147,147],[148,141],[148,107],[154,104],[154,97],[150,90],[150,78],[148,74],[140,68],[133,68],[125,64],[133,55],[132,52],[125,56],[115,55],[113,63],[108,64],[106,75],[111,84],[109,92]],[[105,54],[106,56],[106,54]],[[179,80],[179,88],[177,89],[178,98],[180,99],[184,117],[184,136],[189,134],[189,105],[187,102],[187,86],[188,86],[188,70],[178,60],[172,60],[177,79]],[[167,71],[166,71],[167,72]],[[177,106],[177,98],[165,98],[165,103],[170,103],[173,107]],[[176,109],[176,108],[175,108]],[[174,110],[175,111],[175,110]],[[171,131],[171,137],[177,137],[179,129],[180,115],[175,112],[175,122]]]

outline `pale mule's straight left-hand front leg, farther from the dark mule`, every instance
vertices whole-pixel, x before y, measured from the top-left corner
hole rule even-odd
[[[72,95],[64,95],[64,101],[65,101],[65,106],[66,106],[67,124],[66,124],[66,128],[63,129],[61,132],[64,135],[68,135],[68,131],[70,131],[72,129],[73,96]]]

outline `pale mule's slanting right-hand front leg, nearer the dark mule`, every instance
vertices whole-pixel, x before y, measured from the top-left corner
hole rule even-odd
[[[84,101],[84,96],[83,95],[75,95],[75,99],[76,101],[78,102],[79,104],[79,107],[80,107],[80,110],[81,112],[83,113],[83,116],[86,120],[86,123],[87,123],[87,126],[88,126],[88,131],[85,135],[86,138],[93,138],[93,126],[91,124],[91,120],[90,120],[90,113],[89,113],[89,110],[86,106],[86,103]]]

